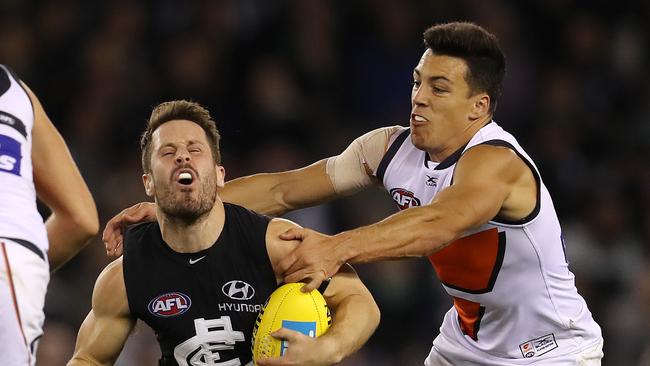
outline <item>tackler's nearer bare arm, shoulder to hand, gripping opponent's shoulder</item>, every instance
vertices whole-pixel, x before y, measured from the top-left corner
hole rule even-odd
[[[458,162],[454,184],[428,205],[334,236],[291,229],[286,240],[301,240],[280,270],[287,282],[310,278],[306,290],[336,273],[342,263],[363,263],[434,253],[497,214],[511,220],[528,215],[536,203],[530,168],[510,149],[477,146]]]

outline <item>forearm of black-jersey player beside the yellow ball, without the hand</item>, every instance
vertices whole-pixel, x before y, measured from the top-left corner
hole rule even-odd
[[[370,293],[343,299],[333,311],[332,327],[319,338],[331,347],[331,362],[339,363],[361,348],[379,325],[379,318],[379,308]]]

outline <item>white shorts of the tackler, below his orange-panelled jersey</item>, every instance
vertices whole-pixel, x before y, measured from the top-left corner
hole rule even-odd
[[[424,360],[425,366],[474,366],[474,365],[544,365],[544,366],[600,366],[600,361],[603,358],[603,340],[600,339],[596,344],[592,344],[588,347],[585,347],[581,352],[561,355],[553,358],[543,358],[543,359],[521,359],[521,360],[511,360],[507,363],[487,360],[484,362],[477,363],[471,361],[461,361],[467,355],[466,349],[461,349],[458,346],[452,345],[451,342],[446,340],[442,336],[438,336],[440,339],[436,339],[436,342],[442,342],[446,350],[453,350],[448,353],[441,353],[438,348],[434,345],[431,348],[431,352],[427,359]],[[458,352],[456,352],[458,351]]]

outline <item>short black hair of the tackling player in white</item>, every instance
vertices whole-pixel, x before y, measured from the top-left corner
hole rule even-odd
[[[494,34],[474,23],[445,23],[427,29],[424,44],[434,54],[465,60],[468,69],[465,81],[471,95],[487,93],[490,113],[494,113],[506,74],[506,58]]]

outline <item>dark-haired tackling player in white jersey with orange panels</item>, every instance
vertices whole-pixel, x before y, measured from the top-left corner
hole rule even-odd
[[[530,157],[492,120],[505,75],[496,37],[436,25],[413,71],[410,128],[386,127],[343,153],[289,172],[235,179],[221,196],[267,214],[382,184],[401,211],[376,224],[302,240],[279,267],[307,289],[345,262],[427,256],[453,299],[426,365],[600,365],[602,336],[564,255],[553,202]],[[107,225],[154,217],[134,206]]]

